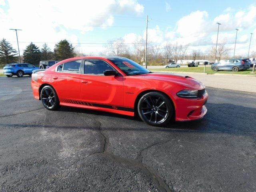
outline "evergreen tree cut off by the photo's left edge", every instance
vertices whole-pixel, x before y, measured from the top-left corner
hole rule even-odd
[[[15,63],[18,60],[17,51],[5,38],[0,41],[0,64]]]

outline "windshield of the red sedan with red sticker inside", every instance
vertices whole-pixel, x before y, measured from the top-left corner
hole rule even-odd
[[[120,70],[122,70],[128,76],[151,73],[150,70],[147,70],[138,63],[127,58],[112,58],[108,60],[114,63],[118,68],[120,68]]]

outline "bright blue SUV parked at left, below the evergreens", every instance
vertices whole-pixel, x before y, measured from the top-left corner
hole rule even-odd
[[[7,77],[12,77],[13,75],[16,75],[17,77],[22,77],[23,75],[31,76],[32,71],[36,69],[38,69],[38,67],[28,63],[7,64],[4,67],[4,74]]]

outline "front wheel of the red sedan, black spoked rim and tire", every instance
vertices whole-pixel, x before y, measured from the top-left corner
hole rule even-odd
[[[164,126],[173,116],[173,105],[166,95],[159,92],[144,94],[137,106],[140,118],[152,126]]]

